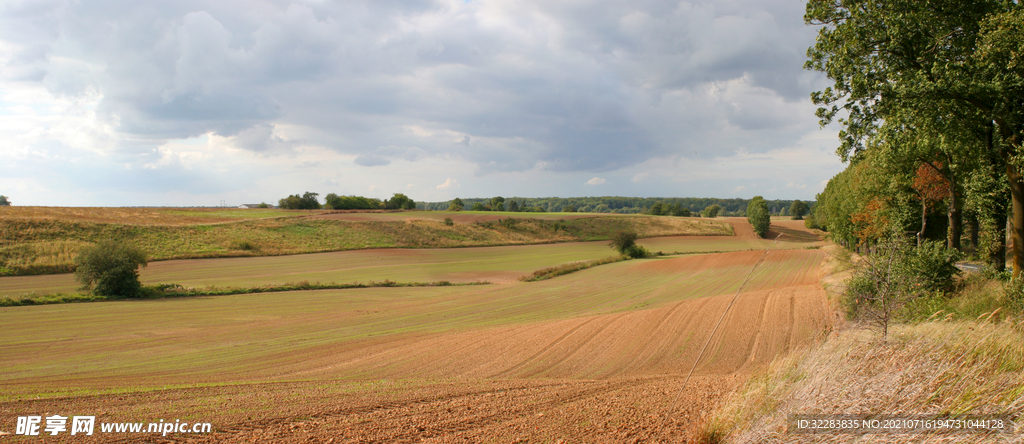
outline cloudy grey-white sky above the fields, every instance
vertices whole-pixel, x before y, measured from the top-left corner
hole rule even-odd
[[[813,199],[794,0],[0,2],[0,194]]]

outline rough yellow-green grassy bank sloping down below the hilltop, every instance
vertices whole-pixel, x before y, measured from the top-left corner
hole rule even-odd
[[[316,220],[279,217],[212,224],[141,225],[52,218],[0,218],[0,276],[70,272],[83,247],[130,242],[152,260],[276,256],[381,248],[460,248],[607,239],[633,230],[641,237],[729,235],[721,222],[682,218],[509,218],[446,226],[441,221]]]

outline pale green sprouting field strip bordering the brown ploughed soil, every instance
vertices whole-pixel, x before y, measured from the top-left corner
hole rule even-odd
[[[806,280],[821,258],[818,251],[777,253],[744,291]],[[0,399],[270,381],[329,349],[730,294],[759,258],[741,252],[633,260],[502,285],[8,307],[0,309]]]

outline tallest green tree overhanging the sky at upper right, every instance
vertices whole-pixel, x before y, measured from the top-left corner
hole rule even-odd
[[[846,114],[839,119],[838,153],[844,161],[863,150],[883,123],[932,120],[942,128],[973,120],[972,114],[987,124],[973,127],[990,125],[1001,139],[994,144],[999,158],[1024,153],[1020,2],[809,0],[805,20],[822,26],[806,65],[834,81],[812,99],[822,105],[817,116],[823,125]],[[958,152],[957,158],[971,159]],[[1019,276],[1024,270],[1024,176],[1013,162],[1007,162],[1005,174],[1013,202],[1014,275]],[[955,195],[959,180],[950,181]],[[948,241],[955,246],[958,204],[949,210]]]

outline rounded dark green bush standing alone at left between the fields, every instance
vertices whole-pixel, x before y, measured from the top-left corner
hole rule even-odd
[[[141,296],[138,267],[146,265],[145,253],[114,240],[102,240],[75,258],[75,277],[94,295],[136,298]]]

